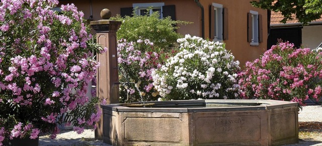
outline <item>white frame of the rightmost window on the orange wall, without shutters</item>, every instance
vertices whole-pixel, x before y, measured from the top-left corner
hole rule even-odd
[[[258,12],[256,11],[250,11],[251,15],[252,15],[252,23],[253,23],[253,34],[252,34],[252,42],[251,45],[252,46],[258,46],[259,45],[259,23],[258,23]]]

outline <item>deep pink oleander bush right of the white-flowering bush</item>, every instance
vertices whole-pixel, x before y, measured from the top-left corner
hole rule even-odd
[[[279,42],[238,74],[241,98],[298,102],[322,95],[322,53]]]

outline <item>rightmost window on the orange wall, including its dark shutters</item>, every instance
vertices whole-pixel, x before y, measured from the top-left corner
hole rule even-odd
[[[247,41],[250,42],[252,46],[259,45],[260,42],[263,42],[262,15],[259,15],[256,11],[250,11],[247,15],[247,19]]]

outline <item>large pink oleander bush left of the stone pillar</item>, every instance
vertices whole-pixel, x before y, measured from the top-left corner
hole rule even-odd
[[[95,125],[99,100],[86,96],[102,47],[74,5],[57,0],[0,2],[0,145],[72,124]]]

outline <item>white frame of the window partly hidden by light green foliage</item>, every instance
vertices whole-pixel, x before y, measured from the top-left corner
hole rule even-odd
[[[133,4],[133,8],[136,9],[136,15],[142,15],[140,14],[140,10],[146,10],[150,7],[152,7],[152,9],[150,9],[150,14],[153,13],[153,9],[160,9],[160,18],[163,18],[162,16],[162,7],[165,6],[165,3],[136,3]]]

